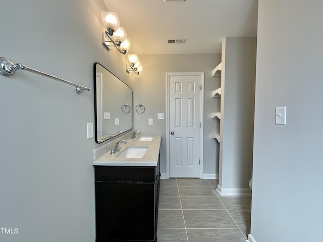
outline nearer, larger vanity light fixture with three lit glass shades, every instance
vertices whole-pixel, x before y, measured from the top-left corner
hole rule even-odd
[[[126,30],[120,27],[120,20],[114,12],[102,12],[102,21],[106,31],[102,33],[102,43],[108,49],[116,47],[120,53],[126,54],[130,49],[130,39],[127,38]]]

